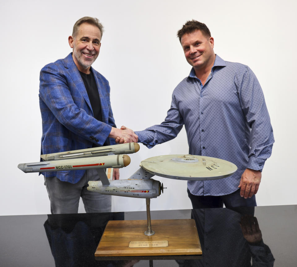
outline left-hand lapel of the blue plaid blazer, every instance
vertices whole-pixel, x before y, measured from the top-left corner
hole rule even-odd
[[[77,69],[73,58],[72,58],[72,53],[70,53],[66,58],[65,58],[65,64],[64,64],[65,68],[68,69],[68,73],[71,77],[71,79],[73,80],[73,83],[75,84],[76,88],[80,91],[80,93],[82,94],[82,96],[84,97],[84,100],[87,102],[90,110],[92,111],[92,115],[93,114],[93,109],[91,107],[91,103],[88,97],[88,93],[86,90],[86,87],[84,86],[84,81],[80,76],[80,72]],[[97,82],[97,81],[96,81]]]

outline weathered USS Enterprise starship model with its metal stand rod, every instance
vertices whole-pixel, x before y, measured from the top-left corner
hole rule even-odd
[[[44,161],[21,163],[18,168],[26,173],[96,169],[100,181],[88,181],[89,191],[146,199],[146,235],[154,234],[150,225],[149,201],[163,193],[163,184],[152,179],[153,176],[178,180],[214,180],[228,177],[237,170],[235,164],[223,159],[197,155],[163,155],[141,161],[140,168],[128,179],[109,180],[105,169],[128,166],[131,159],[126,154],[135,153],[139,149],[138,143],[126,143],[46,154],[41,155]]]

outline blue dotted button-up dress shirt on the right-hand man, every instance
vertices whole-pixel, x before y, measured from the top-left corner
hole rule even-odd
[[[262,170],[271,155],[273,130],[255,74],[217,55],[203,86],[192,68],[174,89],[165,121],[135,133],[138,142],[151,148],[175,138],[183,125],[190,154],[225,159],[238,167],[223,179],[188,181],[193,195],[235,192],[244,170]]]

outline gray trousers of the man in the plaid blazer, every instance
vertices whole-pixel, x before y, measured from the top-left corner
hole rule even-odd
[[[111,196],[87,190],[88,181],[100,180],[95,169],[87,170],[76,184],[61,182],[57,177],[44,178],[52,214],[77,213],[80,197],[87,213],[110,212]]]

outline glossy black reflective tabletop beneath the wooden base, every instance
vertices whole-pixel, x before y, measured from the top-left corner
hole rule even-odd
[[[94,256],[106,223],[146,212],[0,216],[0,266],[297,266],[297,205],[151,211],[191,217],[202,255],[107,258]]]

